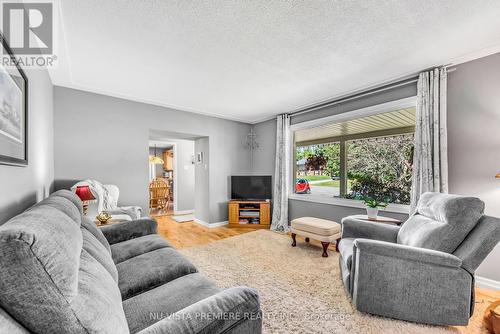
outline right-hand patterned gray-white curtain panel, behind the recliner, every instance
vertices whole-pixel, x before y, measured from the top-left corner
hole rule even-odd
[[[411,210],[427,191],[448,192],[445,68],[420,73],[417,91]]]

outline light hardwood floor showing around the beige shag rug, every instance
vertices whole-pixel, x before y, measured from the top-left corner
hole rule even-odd
[[[158,222],[158,233],[165,237],[176,248],[186,248],[197,245],[208,244],[217,240],[233,237],[243,233],[255,231],[254,228],[247,227],[217,227],[207,228],[195,222],[178,223],[170,216],[154,217]],[[304,239],[297,236],[297,241],[304,242]],[[290,240],[291,243],[291,240]],[[317,245],[318,252],[321,252],[321,244],[311,240],[313,245]],[[330,246],[329,251],[334,251],[335,247]],[[474,316],[470,319],[468,326],[454,327],[458,333],[486,333],[482,322],[483,313],[486,307],[493,301],[500,299],[500,291],[476,288],[476,305]]]

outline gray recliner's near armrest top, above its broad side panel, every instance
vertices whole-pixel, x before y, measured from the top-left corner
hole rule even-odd
[[[354,240],[354,247],[356,247],[356,250],[361,252],[408,261],[455,268],[459,268],[462,265],[462,260],[453,254],[439,252],[432,249],[405,246],[391,242],[356,239]]]

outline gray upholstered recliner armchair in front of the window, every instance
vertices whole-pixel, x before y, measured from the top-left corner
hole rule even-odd
[[[436,325],[466,325],[474,271],[500,241],[500,219],[477,198],[425,193],[401,227],[342,221],[340,269],[359,311]]]

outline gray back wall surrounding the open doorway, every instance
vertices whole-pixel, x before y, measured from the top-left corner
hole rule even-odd
[[[209,137],[205,219],[227,220],[229,176],[251,170],[243,146],[250,125],[63,87],[54,88],[54,99],[58,187],[94,178],[118,185],[120,204],[146,210],[150,130],[190,133]]]

